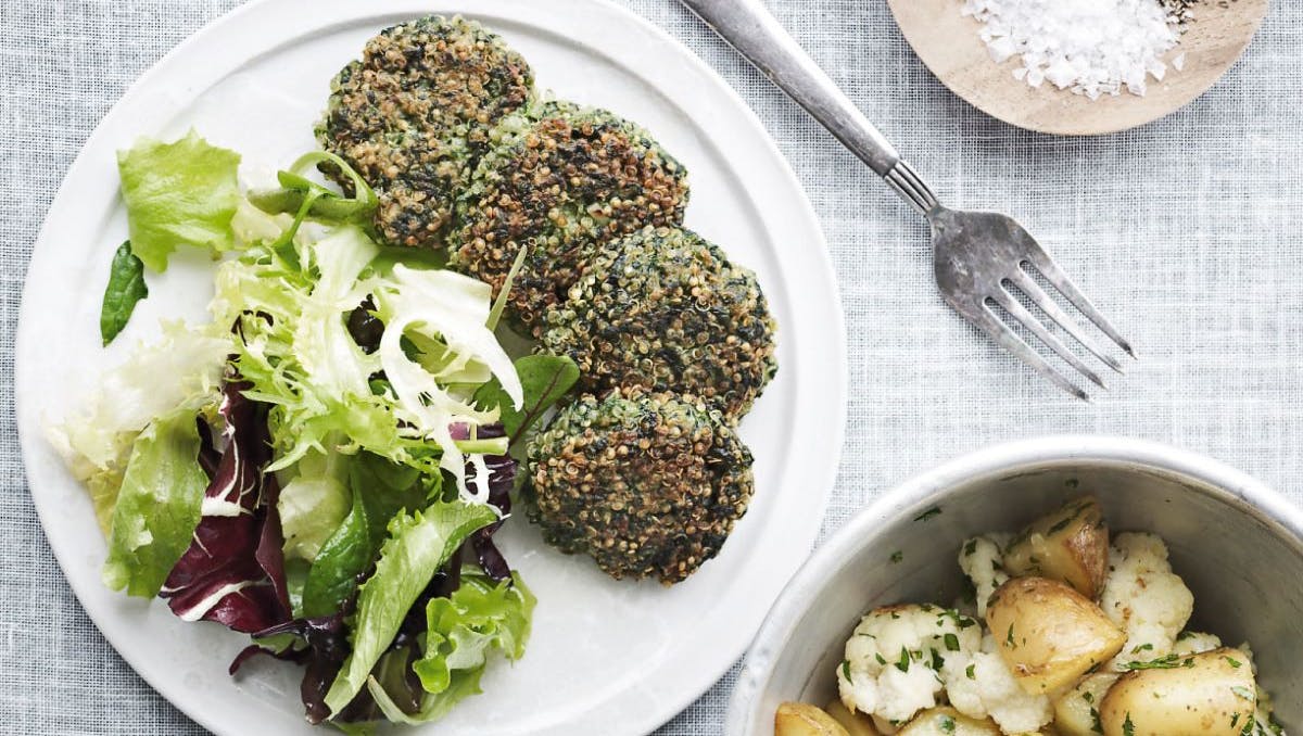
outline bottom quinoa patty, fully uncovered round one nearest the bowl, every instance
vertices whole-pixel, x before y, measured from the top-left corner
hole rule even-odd
[[[564,408],[529,444],[530,517],[615,578],[685,580],[714,558],[753,492],[751,452],[718,412],[614,391]]]

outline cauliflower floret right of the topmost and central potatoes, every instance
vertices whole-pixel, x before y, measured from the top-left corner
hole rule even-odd
[[[1171,654],[1177,634],[1195,610],[1195,597],[1171,572],[1167,546],[1153,534],[1118,534],[1109,546],[1109,577],[1100,608],[1127,632],[1127,644],[1109,663]]]

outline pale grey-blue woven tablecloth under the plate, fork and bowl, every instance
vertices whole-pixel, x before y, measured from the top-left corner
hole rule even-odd
[[[1143,362],[1087,405],[951,314],[924,223],[701,22],[674,0],[620,1],[743,95],[822,220],[851,378],[822,538],[916,472],[1054,432],[1177,444],[1303,502],[1303,4],[1276,3],[1247,56],[1179,113],[1050,138],[946,91],[883,0],[767,0],[938,193],[1019,216],[1135,341]],[[33,241],[83,141],[137,76],[237,4],[0,3],[0,732],[203,732],[108,646],[51,556],[18,452],[12,345]],[[718,733],[735,672],[661,733]]]

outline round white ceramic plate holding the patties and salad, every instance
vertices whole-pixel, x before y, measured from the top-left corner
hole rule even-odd
[[[546,547],[516,518],[503,547],[539,603],[525,658],[495,663],[486,694],[435,728],[480,736],[645,733],[710,686],[743,653],[808,555],[833,486],[846,413],[837,283],[818,223],[791,169],[743,102],[687,48],[598,0],[263,0],[184,43],[108,113],[73,164],[36,242],[17,340],[18,425],[46,534],[91,619],[164,697],[220,733],[308,733],[297,668],[250,663],[227,676],[245,637],[185,624],[160,602],[100,584],[104,543],[83,490],[43,426],[94,391],[99,374],[160,317],[202,319],[203,254],[179,254],[152,279],[128,330],[99,347],[99,302],[126,233],[115,151],[138,135],[190,126],[245,156],[287,165],[313,149],[331,77],[382,27],[426,13],[485,22],[534,68],[539,89],[641,122],[687,167],[688,225],[754,268],[779,327],[778,378],[741,427],[756,456],[749,513],[687,582],[616,582]],[[98,686],[91,679],[87,688]],[[319,733],[319,732],[318,732]]]

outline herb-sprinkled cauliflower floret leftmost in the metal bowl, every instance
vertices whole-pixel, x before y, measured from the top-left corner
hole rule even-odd
[[[973,619],[938,606],[889,606],[860,620],[837,668],[842,703],[895,726],[937,705],[937,670],[981,646]]]

